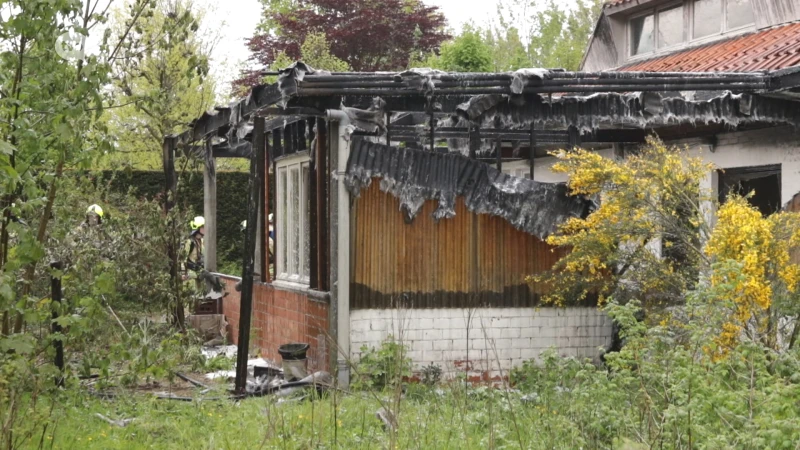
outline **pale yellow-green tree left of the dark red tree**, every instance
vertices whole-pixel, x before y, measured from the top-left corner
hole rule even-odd
[[[135,14],[115,14],[112,28],[119,39]],[[160,169],[164,136],[183,131],[215,103],[208,63],[214,43],[198,34],[203,12],[190,3],[159,0],[141,15],[147,20],[124,37],[113,66],[120,106],[106,116],[117,145],[107,161],[112,167]]]

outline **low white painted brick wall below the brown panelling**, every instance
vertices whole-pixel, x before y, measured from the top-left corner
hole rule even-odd
[[[611,343],[611,319],[597,308],[365,309],[350,311],[350,348],[377,347],[389,335],[409,347],[415,370],[438,364],[450,375],[507,375],[550,348],[564,356],[597,359]],[[469,338],[468,338],[469,336]],[[469,356],[467,355],[469,353]]]

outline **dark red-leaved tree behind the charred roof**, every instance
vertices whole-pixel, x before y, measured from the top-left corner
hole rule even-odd
[[[401,70],[415,53],[438,50],[450,36],[437,7],[419,0],[300,0],[290,11],[266,11],[275,33],[252,37],[247,45],[251,60],[269,67],[281,53],[297,59],[306,35],[322,32],[331,53],[358,72]],[[258,72],[237,80],[239,88],[252,86]]]

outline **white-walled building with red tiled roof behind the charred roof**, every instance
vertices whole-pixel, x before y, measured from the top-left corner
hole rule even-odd
[[[797,67],[798,0],[612,0],[598,20],[581,70],[758,72]],[[690,144],[724,169],[709,173],[705,183],[721,200],[731,190],[755,189],[753,203],[768,213],[800,192],[796,126],[698,128],[689,139],[665,137]]]

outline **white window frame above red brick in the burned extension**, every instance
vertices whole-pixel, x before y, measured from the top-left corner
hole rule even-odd
[[[310,178],[304,177],[303,174],[304,172],[311,173],[310,163],[311,158],[307,151],[281,158],[275,162],[275,195],[277,199],[275,237],[276,245],[278,246],[275,259],[275,280],[305,287],[311,284],[310,265],[303,263],[304,258],[309,258],[309,248],[307,246],[310,241],[306,239],[306,236],[309,234],[310,225],[308,211]],[[297,186],[292,183],[292,172],[294,170],[298,172]],[[284,181],[281,179],[282,176],[286,178],[285,186]],[[298,201],[300,211],[297,215],[299,224],[293,223],[295,210],[291,201],[296,188],[300,190]],[[291,232],[295,226],[298,227],[297,240],[299,242],[295,242],[294,233]],[[291,253],[287,253],[295,248],[297,249],[296,266],[295,262],[291,260]]]

